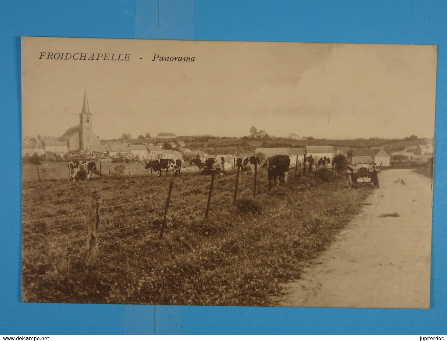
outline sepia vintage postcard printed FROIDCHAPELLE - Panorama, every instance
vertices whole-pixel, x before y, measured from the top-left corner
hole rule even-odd
[[[436,46],[21,58],[23,302],[430,307]]]

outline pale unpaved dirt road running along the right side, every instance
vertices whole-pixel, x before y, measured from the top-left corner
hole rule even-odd
[[[356,189],[353,189],[356,190]],[[430,307],[431,181],[380,173],[380,189],[337,240],[284,286],[289,307]]]

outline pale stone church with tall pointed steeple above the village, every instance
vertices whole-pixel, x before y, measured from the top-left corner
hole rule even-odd
[[[82,112],[79,114],[79,125],[68,128],[58,141],[67,144],[68,152],[83,151],[89,146],[101,144],[101,139],[93,134],[93,114],[90,112],[86,93],[84,93]]]

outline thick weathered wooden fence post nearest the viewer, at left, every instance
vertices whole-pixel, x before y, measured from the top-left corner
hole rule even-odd
[[[94,265],[99,253],[99,204],[101,197],[95,189],[90,197],[89,224],[87,227],[87,243],[85,252],[85,264]]]

